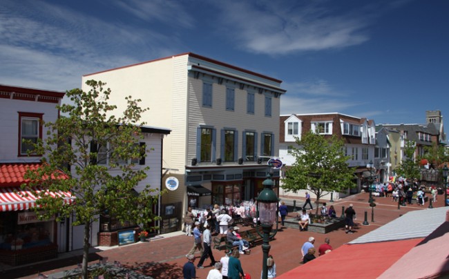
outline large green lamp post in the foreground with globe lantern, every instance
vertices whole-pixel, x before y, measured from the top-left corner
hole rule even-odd
[[[273,191],[273,180],[271,180],[271,173],[267,175],[267,179],[262,182],[264,189],[260,192],[257,198],[257,215],[262,226],[263,235],[258,231],[258,234],[263,237],[262,251],[263,251],[263,262],[262,262],[262,279],[267,279],[268,268],[267,268],[267,258],[269,249],[269,238],[274,237],[278,231],[278,204],[279,199],[276,193]],[[276,231],[273,235],[270,235],[271,228],[273,224],[276,223]]]

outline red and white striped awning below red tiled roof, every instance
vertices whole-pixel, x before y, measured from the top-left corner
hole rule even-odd
[[[36,192],[46,191],[53,198],[64,198],[66,204],[71,204],[75,197],[65,191],[51,192],[41,187],[33,188]],[[20,187],[0,187],[0,211],[18,211],[36,207],[36,197],[33,191],[26,191]]]

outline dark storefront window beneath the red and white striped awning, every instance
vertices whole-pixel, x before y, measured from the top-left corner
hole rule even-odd
[[[40,221],[34,212],[4,212],[0,218],[0,249],[20,250],[52,244],[55,221]]]

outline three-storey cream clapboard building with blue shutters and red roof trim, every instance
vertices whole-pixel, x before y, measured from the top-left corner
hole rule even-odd
[[[162,196],[161,233],[181,229],[188,205],[229,206],[262,189],[267,160],[278,156],[282,81],[191,52],[84,75],[83,84],[88,79],[106,82],[119,110],[125,95],[142,99],[144,121],[171,129],[163,187],[174,179]]]

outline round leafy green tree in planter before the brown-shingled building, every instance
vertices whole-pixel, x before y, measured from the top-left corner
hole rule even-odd
[[[354,187],[354,170],[347,164],[348,156],[343,153],[343,140],[332,135],[308,132],[302,139],[296,138],[300,148],[293,148],[296,162],[286,171],[283,189],[297,193],[309,189],[316,195],[316,204],[323,195],[332,191],[343,191]],[[316,206],[318,214],[318,206]]]

